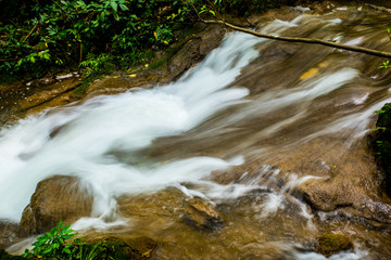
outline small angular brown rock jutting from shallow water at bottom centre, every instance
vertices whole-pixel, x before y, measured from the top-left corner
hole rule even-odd
[[[198,229],[220,229],[223,220],[212,205],[201,198],[191,198],[185,206],[184,221]]]

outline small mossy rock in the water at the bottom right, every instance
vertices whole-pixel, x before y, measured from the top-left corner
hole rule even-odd
[[[326,234],[318,238],[316,251],[329,257],[340,251],[353,249],[353,244],[344,235],[341,234]]]

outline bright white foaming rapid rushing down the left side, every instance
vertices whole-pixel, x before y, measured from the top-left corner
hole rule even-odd
[[[225,87],[256,57],[261,40],[229,35],[223,46],[178,82],[153,90],[99,96],[80,106],[21,120],[0,135],[0,218],[18,221],[39,181],[54,174],[79,177],[92,187],[93,216],[114,210],[114,196],[152,192],[195,181],[212,170],[241,164],[194,157],[167,164],[124,165],[111,152],[131,153],[161,136],[181,134],[248,94]],[[53,139],[50,133],[63,128]],[[17,187],[17,188],[15,188]]]

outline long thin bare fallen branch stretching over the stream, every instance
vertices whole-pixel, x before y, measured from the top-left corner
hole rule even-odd
[[[202,22],[205,23],[205,24],[222,24],[222,25],[224,25],[224,26],[226,26],[228,28],[231,28],[231,29],[235,29],[235,30],[238,30],[238,31],[242,31],[242,32],[250,34],[250,35],[253,35],[253,36],[256,36],[256,37],[267,38],[267,39],[272,39],[272,40],[280,40],[280,41],[289,41],[289,42],[302,42],[302,43],[311,43],[311,44],[320,44],[320,46],[333,47],[333,48],[348,50],[348,51],[366,53],[366,54],[374,55],[374,56],[391,57],[391,52],[377,51],[377,50],[373,50],[373,49],[368,49],[368,48],[364,48],[364,47],[344,46],[344,44],[336,43],[336,42],[332,42],[332,41],[312,39],[312,38],[283,37],[283,36],[275,36],[275,35],[262,34],[262,32],[257,32],[257,31],[254,31],[254,30],[251,30],[251,29],[247,29],[247,28],[243,28],[243,27],[239,27],[239,26],[229,24],[229,23],[224,22],[224,21],[209,20],[209,21],[202,21]]]

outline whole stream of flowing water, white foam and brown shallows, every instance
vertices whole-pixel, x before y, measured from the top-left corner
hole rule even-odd
[[[279,15],[261,18],[256,29],[391,50],[389,14],[325,5]],[[93,98],[3,128],[0,219],[20,221],[45,178],[76,176],[93,207],[74,229],[152,237],[162,243],[156,259],[326,259],[312,250],[317,236],[332,232],[355,249],[330,259],[390,259],[387,229],[335,208],[312,210],[299,192],[335,183],[338,195],[348,194],[336,200],[379,198],[365,144],[374,110],[391,102],[381,62],[229,32],[168,86]],[[327,182],[331,177],[337,181]],[[367,194],[354,190],[362,178],[370,180]],[[191,197],[213,205],[223,226],[184,223]]]

